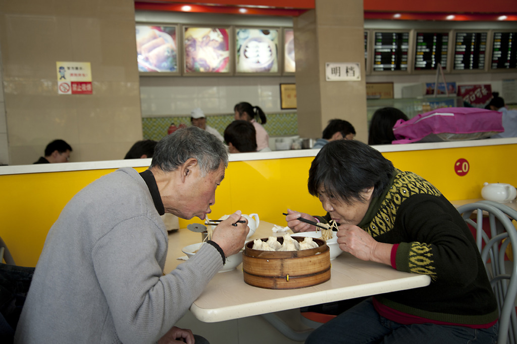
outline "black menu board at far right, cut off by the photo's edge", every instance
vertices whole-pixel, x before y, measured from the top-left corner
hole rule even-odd
[[[494,32],[492,69],[517,68],[517,32]]]

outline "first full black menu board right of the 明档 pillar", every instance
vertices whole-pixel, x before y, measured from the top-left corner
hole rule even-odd
[[[373,71],[407,71],[409,32],[375,32]]]

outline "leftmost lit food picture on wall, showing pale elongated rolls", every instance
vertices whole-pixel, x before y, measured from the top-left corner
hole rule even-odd
[[[176,26],[136,25],[140,72],[178,72]]]

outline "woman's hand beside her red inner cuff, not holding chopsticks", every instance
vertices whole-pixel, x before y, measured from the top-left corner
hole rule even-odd
[[[339,248],[361,260],[391,265],[392,244],[377,242],[370,234],[354,225],[340,225],[337,233]]]

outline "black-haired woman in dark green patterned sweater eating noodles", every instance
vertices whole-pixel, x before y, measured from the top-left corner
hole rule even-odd
[[[493,343],[497,303],[476,241],[456,208],[422,177],[355,140],[326,144],[309,169],[309,193],[336,221],[339,248],[428,275],[427,287],[369,297],[316,328],[314,343]],[[288,210],[293,232],[315,231]]]

